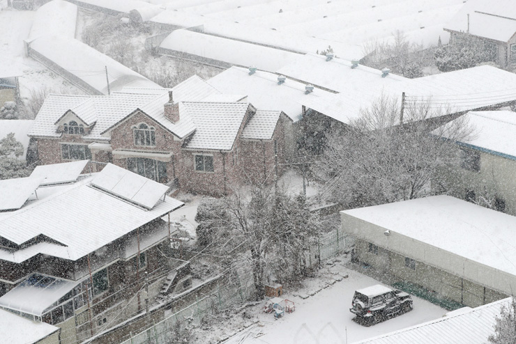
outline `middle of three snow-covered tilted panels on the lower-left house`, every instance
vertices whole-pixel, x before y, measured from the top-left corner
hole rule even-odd
[[[76,182],[88,162],[89,160],[79,160],[77,162],[36,166],[36,169],[31,173],[31,178],[43,179],[39,185],[40,187]]]

